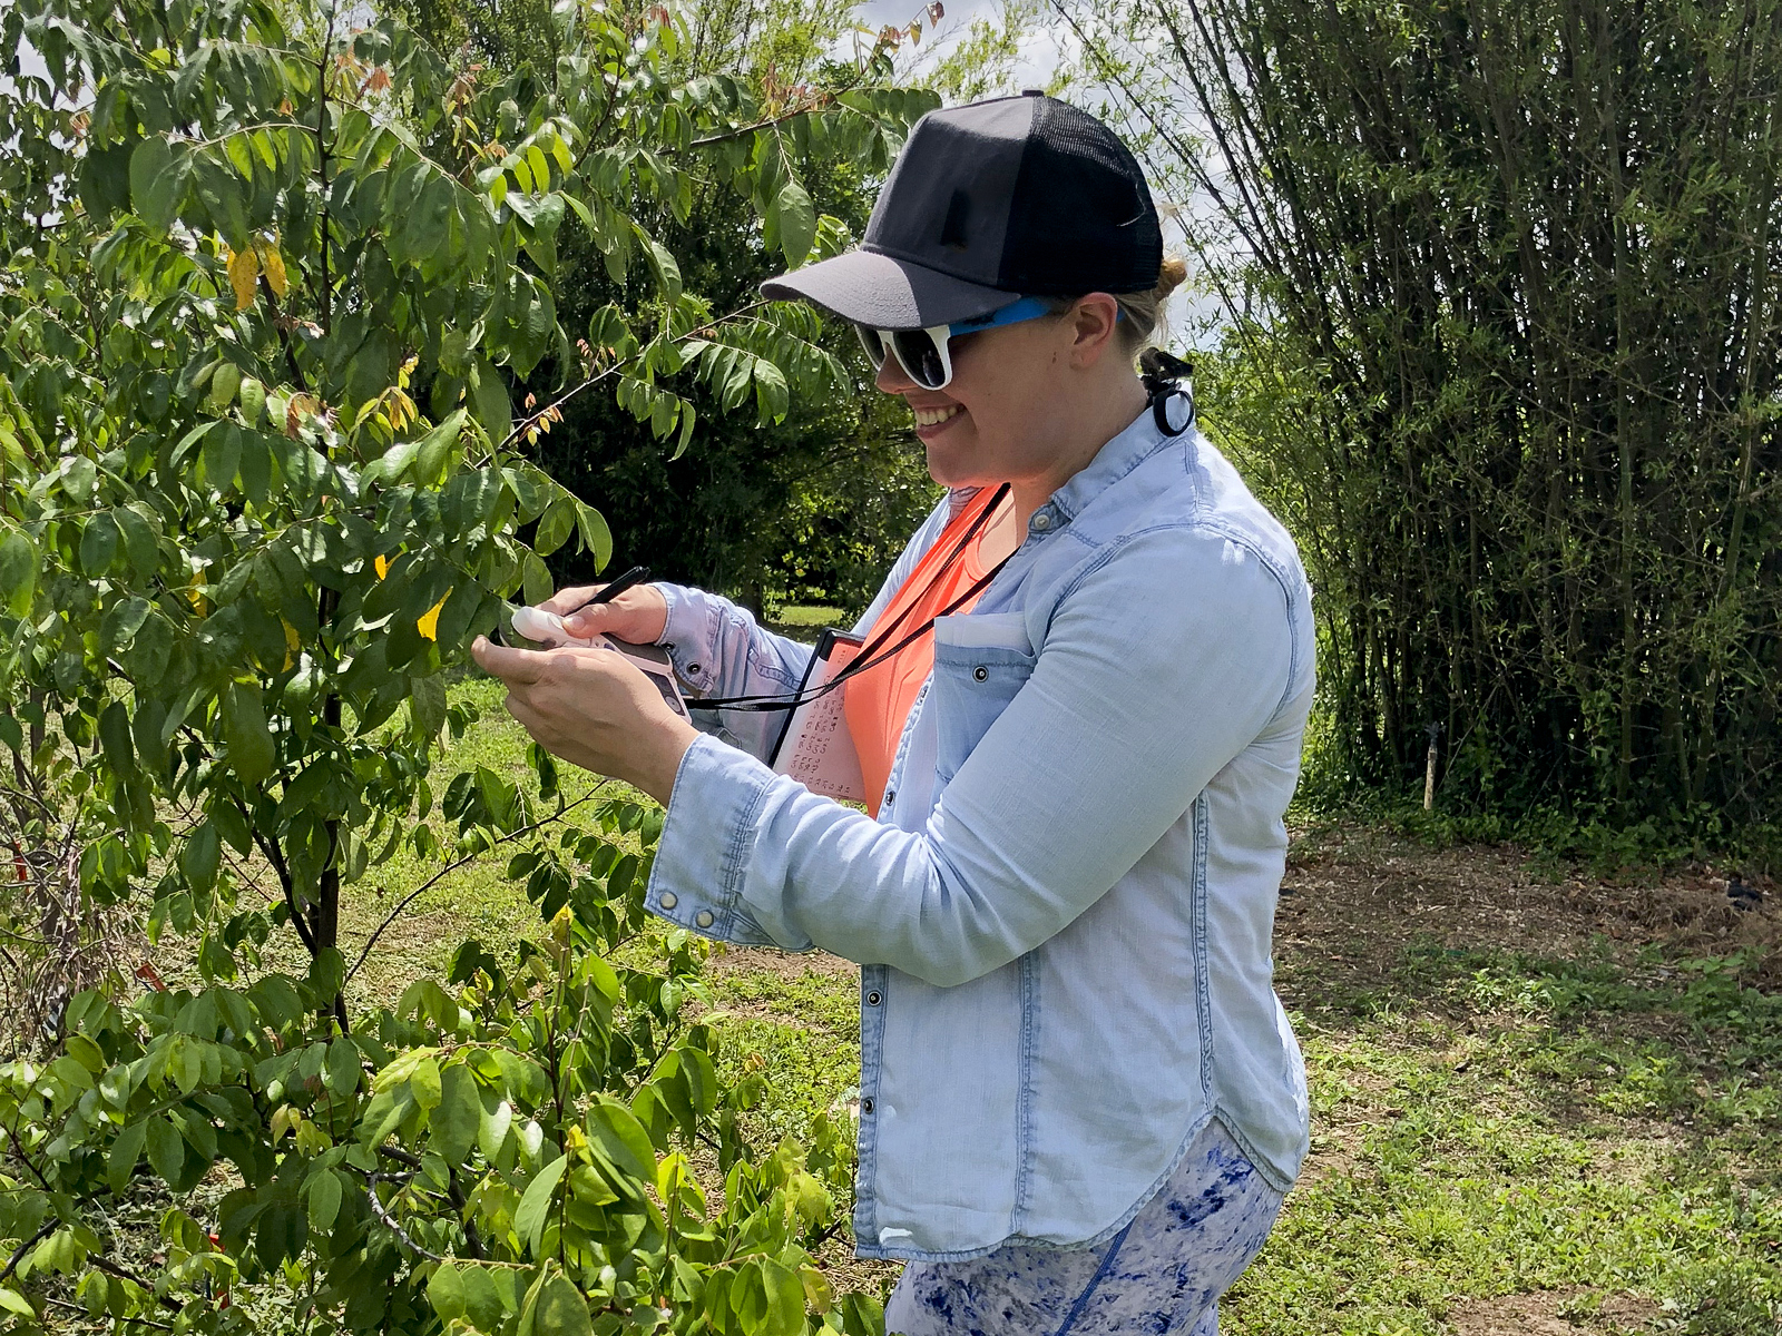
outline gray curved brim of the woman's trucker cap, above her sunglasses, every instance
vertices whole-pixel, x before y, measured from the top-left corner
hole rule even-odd
[[[848,251],[761,285],[775,301],[814,301],[845,321],[877,330],[957,324],[1016,301],[1019,292],[925,269],[879,251]]]

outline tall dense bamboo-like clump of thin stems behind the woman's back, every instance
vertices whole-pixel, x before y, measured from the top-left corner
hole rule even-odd
[[[1782,9],[1071,12],[1206,201],[1203,404],[1315,565],[1340,768],[1420,787],[1435,727],[1456,807],[1773,816]]]

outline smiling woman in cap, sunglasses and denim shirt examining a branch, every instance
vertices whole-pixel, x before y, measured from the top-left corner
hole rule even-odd
[[[773,713],[700,734],[618,656],[476,647],[540,743],[666,805],[654,912],[864,965],[854,1226],[909,1261],[893,1332],[1214,1332],[1306,1153],[1269,941],[1310,590],[1133,371],[1174,280],[1126,148],[1028,94],[927,116],[864,244],[764,287],[861,328],[950,488],[861,623],[903,648],[846,686],[875,816],[763,764]],[[811,654],[679,586],[568,625],[718,698]]]

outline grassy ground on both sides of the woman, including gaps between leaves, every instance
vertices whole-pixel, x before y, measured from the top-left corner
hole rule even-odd
[[[524,734],[499,689],[465,682],[454,698],[483,718],[447,766],[522,775]],[[583,787],[567,771],[565,793]],[[1472,857],[1475,878],[1435,917],[1374,905],[1367,889],[1390,875],[1440,896],[1426,855],[1370,841],[1304,855],[1317,875],[1294,873],[1303,885],[1283,901],[1279,983],[1306,1051],[1313,1156],[1228,1295],[1222,1331],[1782,1331],[1782,998],[1752,985],[1759,957],[1586,933],[1597,919],[1579,914],[1561,930],[1547,901],[1511,905],[1529,919],[1516,939],[1502,928],[1513,916],[1472,912],[1527,894],[1508,855],[1443,851]],[[412,859],[378,869],[349,896],[347,935],[360,941],[435,871]],[[1550,894],[1572,903],[1565,887]],[[394,996],[462,937],[504,946],[536,923],[486,857],[392,925],[362,983]],[[720,1069],[766,1076],[759,1138],[846,1108],[857,1005],[857,976],[827,957],[715,953],[704,1006]],[[895,1277],[841,1249],[829,1259],[854,1286]]]

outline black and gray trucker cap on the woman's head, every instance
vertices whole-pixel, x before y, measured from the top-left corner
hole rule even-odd
[[[916,121],[857,249],[768,280],[880,330],[955,324],[1016,297],[1146,292],[1164,233],[1137,160],[1039,93]]]

